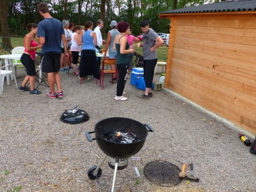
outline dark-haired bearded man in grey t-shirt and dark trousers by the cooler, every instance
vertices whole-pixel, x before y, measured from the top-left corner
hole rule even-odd
[[[138,47],[143,47],[143,69],[146,89],[145,93],[138,97],[141,99],[148,99],[148,97],[153,97],[151,88],[154,78],[154,70],[157,65],[156,49],[163,45],[163,39],[161,39],[161,37],[150,28],[147,20],[142,20],[140,22],[140,27],[143,32],[143,45],[137,45]]]

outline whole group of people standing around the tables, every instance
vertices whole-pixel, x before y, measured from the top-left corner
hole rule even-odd
[[[35,66],[34,58],[35,51],[41,48],[41,70],[47,73],[50,92],[47,94],[49,98],[63,97],[61,89],[61,80],[58,74],[60,63],[69,58],[68,48],[72,52],[72,67],[75,75],[79,78],[88,76],[99,79],[100,57],[96,57],[96,49],[102,46],[102,36],[100,29],[103,28],[103,21],[99,19],[97,26],[93,29],[93,23],[87,21],[84,30],[81,26],[69,25],[67,20],[61,23],[53,18],[48,6],[45,3],[38,5],[39,14],[44,17],[38,26],[37,24],[29,24],[29,33],[24,38],[25,51],[21,57],[21,61],[26,67],[27,76],[23,83],[19,86],[20,90],[30,91],[30,94],[40,94],[41,92],[34,89],[35,81]],[[139,39],[131,35],[131,27],[126,22],[117,23],[115,20],[111,22],[111,28],[108,32],[108,40],[106,41],[104,57],[109,51],[109,58],[116,58],[116,66],[118,69],[116,100],[126,100],[124,87],[129,69],[131,69],[132,58],[134,54],[133,42],[139,42]],[[151,92],[152,81],[154,77],[154,68],[157,63],[156,49],[163,44],[163,40],[157,33],[151,29],[146,20],[140,22],[141,30],[144,33],[143,44],[137,44],[138,47],[143,47],[144,55],[144,79],[146,82],[146,90],[139,98],[148,99],[152,97]],[[68,31],[70,30],[70,32]],[[74,30],[74,32],[73,32]],[[35,35],[39,44],[34,40]],[[71,46],[68,46],[71,42]],[[96,49],[95,49],[96,48]],[[81,61],[79,70],[77,67],[79,52],[81,50]],[[88,65],[83,65],[89,63]],[[65,65],[64,65],[65,66]],[[115,66],[113,66],[115,67]],[[62,70],[65,70],[62,68]],[[116,81],[112,79],[111,82]],[[26,87],[26,83],[30,82],[30,90]],[[55,92],[55,84],[57,92]]]

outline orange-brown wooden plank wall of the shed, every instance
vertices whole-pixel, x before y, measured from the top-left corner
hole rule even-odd
[[[164,87],[256,134],[256,14],[171,20]]]

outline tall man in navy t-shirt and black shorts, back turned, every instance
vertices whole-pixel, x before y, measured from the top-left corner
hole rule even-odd
[[[37,9],[39,14],[44,17],[44,20],[38,24],[37,36],[39,37],[39,44],[42,45],[41,70],[47,73],[47,80],[51,90],[47,96],[52,99],[62,98],[63,92],[58,72],[62,52],[61,40],[63,41],[65,57],[69,57],[65,32],[62,23],[50,15],[48,6],[45,3],[40,3]],[[57,94],[55,92],[55,84],[57,86]]]

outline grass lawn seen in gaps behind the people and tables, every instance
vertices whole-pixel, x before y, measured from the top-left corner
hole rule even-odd
[[[0,42],[2,42],[2,37],[0,37]],[[12,44],[13,48],[14,47],[18,47],[18,46],[24,47],[23,38],[11,37],[11,44]],[[134,44],[134,47],[135,47],[135,51],[138,54],[143,55],[142,48],[137,48],[137,46],[135,44]],[[103,45],[103,48],[105,48],[105,45]],[[40,52],[40,49],[38,49],[37,51]],[[166,61],[167,51],[168,51],[168,48],[165,45],[163,45],[160,48],[158,48],[157,49],[157,58],[158,58],[158,60]],[[2,48],[2,49],[0,49],[0,54],[4,55],[4,54],[10,54],[10,53],[8,51],[4,51],[3,48]]]

